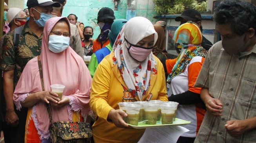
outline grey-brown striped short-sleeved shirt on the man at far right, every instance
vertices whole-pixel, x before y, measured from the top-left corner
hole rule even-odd
[[[194,87],[208,88],[223,104],[222,116],[206,112],[195,143],[255,143],[256,129],[234,138],[224,125],[256,116],[256,45],[238,55],[227,54],[221,41],[213,45]]]

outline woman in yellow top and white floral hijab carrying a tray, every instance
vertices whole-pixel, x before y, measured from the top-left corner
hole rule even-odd
[[[152,53],[157,38],[147,18],[134,17],[120,31],[113,52],[99,64],[90,100],[96,114],[96,143],[135,143],[142,137],[145,129],[129,127],[118,102],[167,101],[163,65]]]

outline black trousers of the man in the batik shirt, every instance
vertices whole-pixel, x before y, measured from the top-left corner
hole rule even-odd
[[[2,128],[4,132],[4,142],[5,143],[24,143],[25,141],[25,125],[27,120],[27,108],[22,108],[20,111],[16,110],[15,113],[19,118],[19,125],[13,127],[11,125],[7,125],[5,122],[5,100],[2,98]]]

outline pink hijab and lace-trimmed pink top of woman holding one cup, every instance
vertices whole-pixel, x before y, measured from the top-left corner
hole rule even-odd
[[[51,107],[53,122],[72,121],[74,111],[86,115],[90,111],[89,100],[91,91],[91,76],[84,60],[69,46],[63,52],[55,54],[49,50],[49,34],[59,20],[69,21],[64,17],[55,17],[45,23],[42,51],[40,55],[45,91],[51,90],[51,84],[65,86],[63,95],[70,102],[60,108]],[[69,25],[70,32],[70,25]],[[42,91],[37,57],[31,59],[24,68],[14,92],[14,102],[19,109],[27,93]],[[39,101],[33,106],[32,117],[41,139],[49,138],[50,120],[45,102]]]

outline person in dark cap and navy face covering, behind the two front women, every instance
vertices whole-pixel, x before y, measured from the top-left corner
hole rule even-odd
[[[98,12],[97,19],[97,23],[100,26],[100,35],[93,42],[93,52],[109,44],[108,35],[115,19],[114,11],[108,7],[103,7]]]

